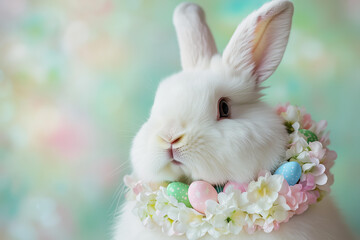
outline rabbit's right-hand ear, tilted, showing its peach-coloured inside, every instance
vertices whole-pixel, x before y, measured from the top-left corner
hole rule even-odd
[[[279,65],[291,28],[293,4],[274,0],[244,19],[223,53],[225,64],[237,70],[250,70],[257,83],[265,81]]]

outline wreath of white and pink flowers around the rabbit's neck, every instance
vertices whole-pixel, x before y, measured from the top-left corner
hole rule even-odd
[[[330,168],[337,155],[327,148],[330,141],[325,133],[326,121],[316,123],[304,108],[289,104],[279,106],[277,113],[289,133],[289,145],[284,163],[273,174],[262,171],[249,183],[228,183],[224,189],[217,189],[215,198],[204,202],[204,211],[197,211],[188,202],[191,196],[187,185],[180,196],[173,194],[172,183],[143,183],[125,176],[125,185],[132,190],[127,197],[136,201],[133,213],[145,226],[160,227],[169,236],[185,234],[196,240],[205,234],[218,238],[241,231],[269,233],[306,211],[330,192],[334,182]],[[293,174],[294,166],[295,170],[299,168],[298,176]],[[179,190],[182,183],[176,184]]]

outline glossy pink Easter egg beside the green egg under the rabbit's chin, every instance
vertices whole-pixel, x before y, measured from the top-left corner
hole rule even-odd
[[[207,200],[217,201],[215,188],[205,181],[196,181],[190,184],[188,197],[191,206],[200,213],[205,213]]]

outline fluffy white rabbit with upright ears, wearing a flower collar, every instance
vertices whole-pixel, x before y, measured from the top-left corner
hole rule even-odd
[[[265,4],[238,26],[221,56],[203,10],[191,3],[176,8],[182,71],[161,82],[150,118],[134,139],[135,176],[147,182],[181,178],[224,184],[248,182],[279,164],[287,132],[275,110],[260,100],[260,84],[282,59],[292,15],[288,0]],[[145,228],[131,213],[133,206],[124,204],[114,240],[186,239]],[[328,196],[277,231],[219,239],[351,238]]]

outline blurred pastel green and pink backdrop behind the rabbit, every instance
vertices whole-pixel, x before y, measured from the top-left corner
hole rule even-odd
[[[110,239],[131,140],[180,70],[180,1],[0,0],[0,239]],[[264,0],[195,1],[222,51]],[[360,1],[294,0],[272,105],[327,119],[333,196],[360,233]]]

